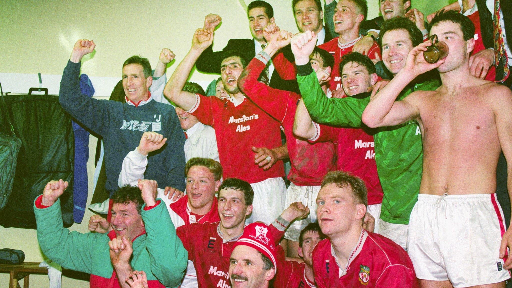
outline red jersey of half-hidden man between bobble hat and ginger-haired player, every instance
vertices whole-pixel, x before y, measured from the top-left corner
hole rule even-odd
[[[274,288],[316,288],[314,281],[307,279],[305,269],[306,263],[278,259]]]

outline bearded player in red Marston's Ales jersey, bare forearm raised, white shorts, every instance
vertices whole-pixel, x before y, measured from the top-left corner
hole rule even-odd
[[[222,57],[227,99],[183,90],[197,58],[213,39],[213,31],[196,30],[190,51],[167,82],[164,94],[204,125],[214,127],[224,179],[242,179],[254,190],[254,210],[248,221],[270,223],[284,209],[286,185],[280,159],[288,157],[288,150],[282,146],[280,123],[238,88],[238,78],[246,65],[243,56],[228,51]]]

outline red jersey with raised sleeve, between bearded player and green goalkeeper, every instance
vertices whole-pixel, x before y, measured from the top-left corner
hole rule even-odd
[[[293,121],[299,94],[271,88],[258,81],[265,64],[253,58],[239,79],[243,92],[263,111],[281,122],[286,136],[286,146],[291,169],[288,179],[297,186],[319,186],[329,172],[336,170],[336,150],[332,142],[309,143],[293,134]]]

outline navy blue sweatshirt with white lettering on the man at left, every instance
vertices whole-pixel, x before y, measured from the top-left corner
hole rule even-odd
[[[173,106],[151,100],[138,107],[118,101],[98,100],[80,91],[80,63],[68,61],[60,82],[59,102],[78,122],[103,137],[105,188],[118,189],[122,161],[139,146],[144,132],[155,131],[167,138],[165,145],[147,158],[145,179],[158,187],[185,191],[185,136]]]

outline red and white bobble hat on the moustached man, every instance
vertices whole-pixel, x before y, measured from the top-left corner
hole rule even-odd
[[[238,245],[246,245],[258,250],[260,253],[268,257],[277,272],[277,265],[275,259],[276,247],[272,234],[268,232],[268,226],[264,223],[252,223],[245,227],[244,234],[234,244],[234,247]],[[234,249],[233,247],[233,249]]]

